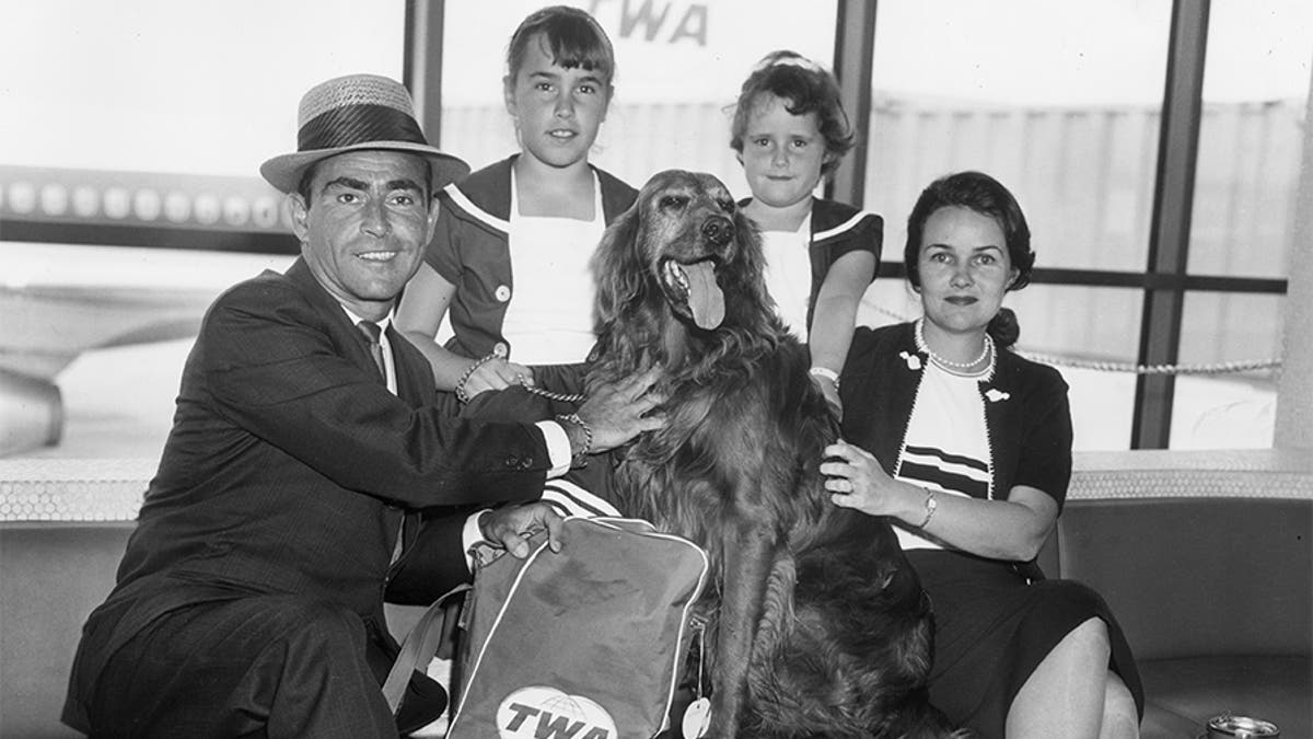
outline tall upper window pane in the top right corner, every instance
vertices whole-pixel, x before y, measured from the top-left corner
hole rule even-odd
[[[1213,0],[1191,272],[1287,275],[1310,63],[1308,0]]]

